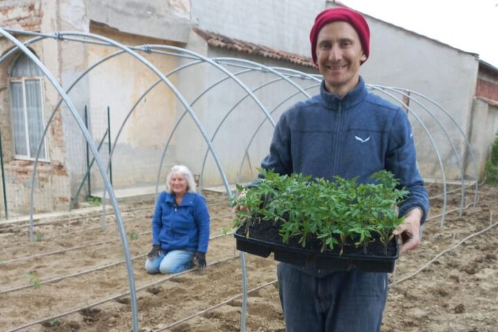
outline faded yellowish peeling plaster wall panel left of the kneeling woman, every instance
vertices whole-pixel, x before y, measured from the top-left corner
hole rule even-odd
[[[129,46],[167,45],[164,40],[118,33],[101,26],[91,26],[91,33]],[[117,51],[118,48],[91,45],[89,62],[93,64]],[[140,52],[140,55],[165,75],[178,66],[176,57],[145,52]],[[167,78],[174,86],[178,84],[176,74]],[[103,62],[89,73],[91,98],[88,108],[93,136],[100,139],[107,128],[107,107],[110,110],[112,144],[129,115],[112,158],[113,186],[116,188],[156,183],[160,158],[174,126],[177,102],[166,84],[156,84],[158,80],[156,73],[126,53]],[[154,84],[154,89],[143,96]],[[129,113],[135,104],[133,112]],[[172,140],[167,151],[166,167],[174,162],[175,145],[175,140]],[[108,161],[107,149],[106,140],[102,154],[105,163]],[[102,188],[102,181],[96,171],[93,172],[93,187],[98,190]]]

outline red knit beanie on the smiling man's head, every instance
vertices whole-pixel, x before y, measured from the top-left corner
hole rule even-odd
[[[370,29],[367,21],[365,20],[365,17],[363,17],[363,15],[361,15],[359,12],[356,12],[349,8],[341,7],[329,8],[317,15],[315,24],[313,24],[313,28],[311,28],[310,33],[311,57],[313,57],[313,62],[317,64],[316,42],[318,33],[320,33],[320,30],[326,24],[335,21],[347,22],[351,24],[353,28],[355,28],[356,32],[358,33],[358,37],[360,37],[363,53],[368,59],[370,53]],[[365,59],[365,61],[367,61],[367,59]]]

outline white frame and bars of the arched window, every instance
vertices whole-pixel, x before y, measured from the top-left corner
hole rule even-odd
[[[45,129],[45,109],[44,109],[44,80],[43,80],[43,77],[40,77],[40,76],[22,76],[22,77],[13,77],[11,76],[10,77],[10,82],[11,83],[21,83],[22,84],[22,93],[23,93],[23,111],[24,111],[24,128],[25,128],[25,132],[26,132],[26,151],[28,153],[27,156],[24,156],[24,155],[19,155],[19,154],[16,154],[16,149],[15,149],[15,145],[18,144],[17,142],[15,142],[15,137],[12,137],[12,142],[13,142],[13,148],[14,148],[14,154],[15,154],[15,159],[18,159],[18,160],[31,160],[31,161],[34,161],[35,160],[35,157],[36,156],[31,156],[31,151],[30,151],[30,140],[29,140],[29,129],[28,129],[28,107],[26,107],[26,81],[38,81],[39,82],[39,87],[40,87],[40,98],[42,100],[40,100],[40,105],[41,105],[41,108],[40,108],[40,111],[42,112],[42,128]],[[10,98],[12,98],[12,93],[10,93]],[[11,104],[11,107],[10,107],[10,114],[12,116],[13,114],[13,111],[12,111],[12,104]],[[14,127],[14,121],[11,120],[10,121],[11,124],[12,124],[12,136],[14,136],[14,133],[15,133],[15,127]],[[42,129],[42,130],[43,130]],[[41,151],[40,151],[41,152]],[[41,161],[41,162],[50,162],[50,159],[48,158],[48,149],[47,149],[47,145],[46,145],[46,136],[44,137],[44,152],[45,152],[45,158],[38,158],[38,161]]]

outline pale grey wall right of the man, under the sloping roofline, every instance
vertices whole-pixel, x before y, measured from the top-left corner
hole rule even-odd
[[[416,95],[411,97],[409,106],[412,113],[409,118],[414,129],[421,173],[426,178],[442,177],[437,158],[439,153],[446,177],[450,180],[460,178],[458,158],[463,165],[468,147],[456,126],[468,136],[478,60],[471,53],[391,24],[369,17],[367,20],[371,27],[371,55],[361,68],[362,75],[371,84],[421,93],[448,112],[451,118],[425,98]],[[388,95],[380,95],[396,101]],[[400,95],[397,97],[403,98]]]

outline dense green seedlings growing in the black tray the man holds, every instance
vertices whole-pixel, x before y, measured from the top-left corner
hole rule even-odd
[[[408,192],[398,189],[398,180],[391,172],[377,172],[372,176],[374,183],[358,184],[358,178],[335,176],[327,181],[259,171],[264,179],[233,200],[240,207],[234,228],[246,223],[246,237],[250,224],[273,222],[279,224],[284,243],[297,237],[306,247],[310,239],[320,239],[322,252],[338,245],[342,255],[348,240],[362,246],[366,254],[373,234],[378,233],[387,253],[391,232],[403,222],[396,206]]]

